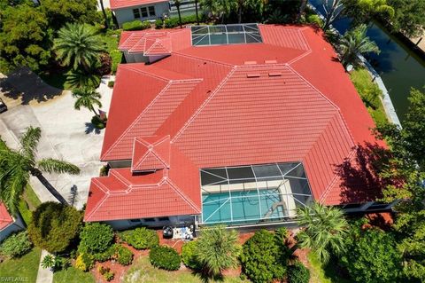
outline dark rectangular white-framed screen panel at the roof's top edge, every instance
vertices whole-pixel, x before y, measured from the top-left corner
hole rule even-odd
[[[192,45],[262,43],[257,24],[192,26]]]

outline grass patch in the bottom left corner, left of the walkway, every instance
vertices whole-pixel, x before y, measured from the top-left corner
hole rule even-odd
[[[40,248],[33,248],[27,255],[17,259],[5,260],[0,263],[1,277],[4,279],[13,277],[16,282],[35,282],[41,254],[42,250]]]

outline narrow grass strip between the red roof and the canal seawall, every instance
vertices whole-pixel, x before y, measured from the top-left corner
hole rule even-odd
[[[352,83],[359,92],[361,99],[367,106],[367,111],[372,116],[375,123],[388,122],[385,110],[383,109],[383,103],[380,99],[382,91],[372,82],[372,77],[367,72],[367,69],[356,69],[352,71],[350,76],[352,78]]]

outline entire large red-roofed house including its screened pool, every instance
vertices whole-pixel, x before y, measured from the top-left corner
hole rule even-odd
[[[111,169],[92,178],[84,221],[239,226],[293,222],[313,201],[390,208],[354,174],[358,146],[379,141],[321,31],[144,30],[119,48],[135,63],[117,72],[101,153]]]

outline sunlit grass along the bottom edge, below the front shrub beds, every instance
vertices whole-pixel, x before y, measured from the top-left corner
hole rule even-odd
[[[191,271],[164,271],[154,268],[149,262],[148,256],[142,256],[137,263],[128,270],[124,278],[126,283],[202,283],[197,275],[192,274]],[[249,282],[239,279],[239,277],[225,277],[223,283],[241,283]]]

